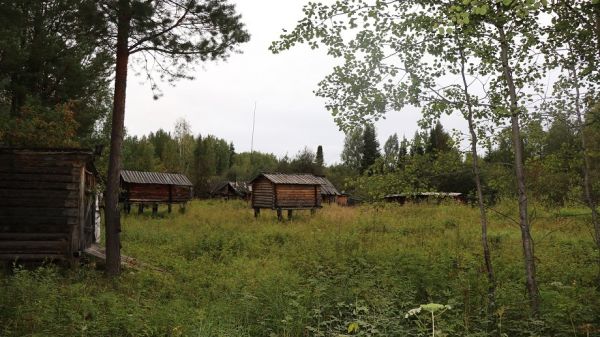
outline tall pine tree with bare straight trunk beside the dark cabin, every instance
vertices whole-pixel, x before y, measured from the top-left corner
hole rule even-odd
[[[161,75],[169,79],[189,78],[187,71],[195,63],[227,58],[238,44],[247,42],[250,35],[235,6],[225,1],[104,0],[99,7],[105,10],[104,19],[112,21],[116,28],[107,34],[116,40],[113,41],[115,77],[105,202],[106,273],[116,275],[121,271],[118,197],[130,57],[138,54],[142,60],[153,60],[157,64],[154,68],[162,69]],[[156,88],[152,74],[147,75],[153,89]]]

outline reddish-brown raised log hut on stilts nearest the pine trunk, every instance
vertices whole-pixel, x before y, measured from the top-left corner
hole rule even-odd
[[[158,204],[167,204],[169,213],[172,204],[185,203],[192,199],[192,182],[183,174],[121,171],[121,196],[125,212],[131,212],[131,205],[138,204],[138,212],[145,205],[152,205],[152,213],[158,211]]]

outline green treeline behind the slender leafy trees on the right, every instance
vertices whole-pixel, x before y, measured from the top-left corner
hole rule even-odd
[[[598,120],[590,110],[587,120]],[[544,126],[544,122],[546,126]],[[523,127],[525,173],[531,199],[548,207],[583,202],[582,160],[578,129],[567,115],[531,119]],[[510,128],[501,129],[485,145],[481,164],[484,196],[488,203],[516,197]],[[588,123],[585,130],[588,155],[600,157],[600,124]],[[406,192],[460,192],[474,201],[475,182],[469,151],[460,148],[437,122],[417,131],[411,139],[397,134],[380,146],[373,125],[356,128],[346,135],[342,164],[327,168],[339,186],[367,200]],[[599,161],[591,167],[593,191],[600,190]],[[595,192],[597,194],[597,192]]]

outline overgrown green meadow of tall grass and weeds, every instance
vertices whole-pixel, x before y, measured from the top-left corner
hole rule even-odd
[[[464,205],[325,206],[255,220],[244,202],[123,218],[141,265],[47,265],[0,276],[2,336],[431,336],[426,303],[449,305],[438,336],[599,336],[600,291],[584,210],[532,214],[542,314],[528,316],[520,232],[491,212],[498,279],[487,320],[478,211]]]

